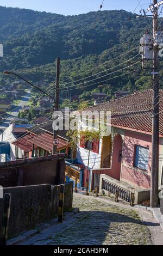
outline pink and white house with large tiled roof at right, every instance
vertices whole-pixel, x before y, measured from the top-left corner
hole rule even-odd
[[[103,174],[110,182],[121,182],[128,189],[144,190],[151,187],[152,154],[152,90],[136,92],[125,97],[85,109],[86,111],[110,111],[111,133],[99,139],[98,150],[86,142],[78,145],[78,162],[87,167],[89,159],[90,189],[93,175]],[[159,106],[159,187],[162,185],[163,168],[163,90],[160,90]],[[108,179],[108,178],[107,178]],[[111,184],[112,184],[111,183]],[[118,183],[119,184],[119,183]],[[99,185],[99,183],[98,183]]]

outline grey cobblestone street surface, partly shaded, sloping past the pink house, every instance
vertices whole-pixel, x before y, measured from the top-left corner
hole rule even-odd
[[[136,210],[74,193],[80,213],[57,234],[33,245],[151,245],[150,233]]]

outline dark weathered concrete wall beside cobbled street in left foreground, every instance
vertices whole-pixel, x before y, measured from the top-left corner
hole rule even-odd
[[[30,230],[37,224],[57,217],[60,186],[49,184],[4,188],[11,193],[9,237]],[[73,184],[65,184],[64,210],[72,208]],[[3,199],[0,200],[0,229],[2,225]],[[1,229],[2,230],[2,229]]]

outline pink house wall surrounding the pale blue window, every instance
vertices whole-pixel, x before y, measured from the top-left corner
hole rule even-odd
[[[149,148],[148,170],[134,167],[135,145]],[[125,132],[123,143],[123,160],[121,179],[130,181],[137,186],[150,188],[151,176],[151,136]]]

